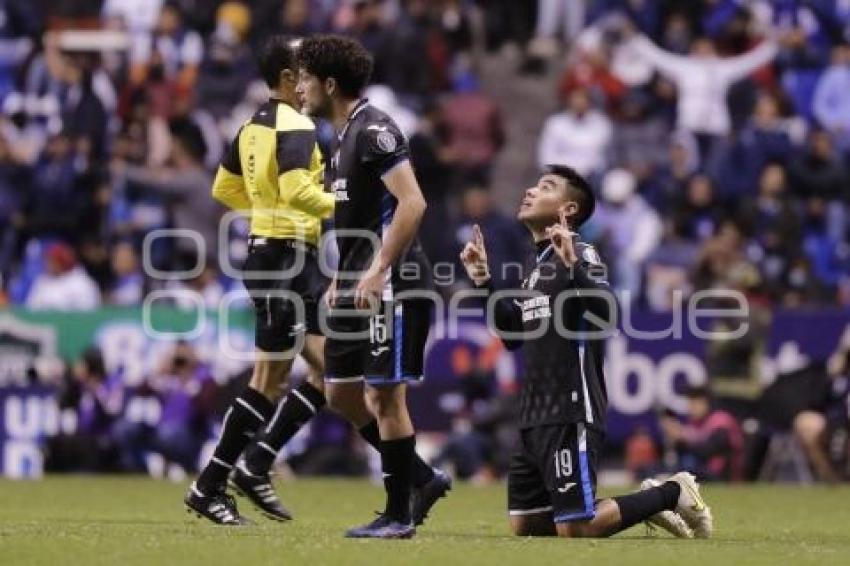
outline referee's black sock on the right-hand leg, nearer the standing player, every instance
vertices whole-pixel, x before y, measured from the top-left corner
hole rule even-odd
[[[308,382],[289,392],[269,424],[245,451],[245,466],[255,475],[271,470],[277,453],[325,406],[325,396]]]

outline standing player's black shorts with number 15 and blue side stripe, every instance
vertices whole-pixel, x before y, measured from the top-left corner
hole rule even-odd
[[[410,299],[385,302],[372,316],[345,316],[357,311],[334,309],[327,321],[332,333],[325,341],[325,379],[331,383],[365,379],[374,386],[422,379],[432,307],[431,301]],[[354,334],[360,337],[353,338]]]

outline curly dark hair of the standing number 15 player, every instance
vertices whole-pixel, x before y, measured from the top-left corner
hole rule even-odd
[[[298,48],[298,65],[320,80],[333,78],[343,96],[358,98],[372,76],[372,56],[358,41],[314,35]]]

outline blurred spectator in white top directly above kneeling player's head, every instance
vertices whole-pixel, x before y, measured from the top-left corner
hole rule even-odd
[[[587,91],[575,89],[567,108],[543,125],[537,161],[541,167],[567,165],[584,176],[600,173],[608,162],[612,134],[611,120],[592,107]]]

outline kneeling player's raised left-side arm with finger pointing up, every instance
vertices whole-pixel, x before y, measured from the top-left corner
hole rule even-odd
[[[481,233],[481,227],[478,224],[472,227],[472,241],[464,246],[460,253],[460,261],[466,269],[467,275],[472,280],[475,288],[484,290],[487,293],[488,300],[495,292],[493,280],[490,277],[490,268],[487,264],[487,248],[484,245],[484,235]],[[488,320],[487,324],[498,332],[522,332],[522,312],[519,306],[514,302],[513,297],[500,297],[496,299],[493,305],[493,319]],[[502,338],[502,342],[509,350],[516,350],[522,346],[521,340],[506,340]]]

